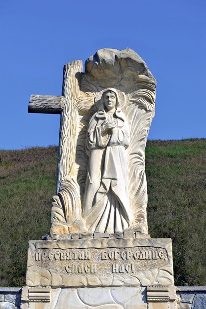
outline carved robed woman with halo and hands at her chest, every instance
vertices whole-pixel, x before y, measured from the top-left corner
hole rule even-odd
[[[96,97],[98,108],[88,124],[89,156],[83,217],[91,232],[123,232],[129,227],[127,159],[129,128],[121,110],[119,90],[108,88]]]

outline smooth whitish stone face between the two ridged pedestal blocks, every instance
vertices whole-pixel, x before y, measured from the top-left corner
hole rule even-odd
[[[144,287],[53,289],[51,309],[146,309]]]

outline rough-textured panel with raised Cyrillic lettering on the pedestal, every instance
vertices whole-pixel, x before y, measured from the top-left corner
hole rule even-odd
[[[32,264],[68,275],[137,274],[161,268],[169,263],[167,252],[160,247],[54,249],[39,248]]]

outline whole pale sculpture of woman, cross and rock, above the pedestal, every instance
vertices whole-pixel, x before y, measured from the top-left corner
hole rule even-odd
[[[29,104],[61,114],[50,232],[147,234],[144,151],[156,80],[130,48],[100,49],[82,71],[80,60],[66,64],[62,96],[32,95]]]

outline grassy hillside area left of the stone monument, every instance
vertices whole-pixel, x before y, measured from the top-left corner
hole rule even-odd
[[[0,151],[0,285],[25,284],[28,241],[49,233],[57,147]]]

